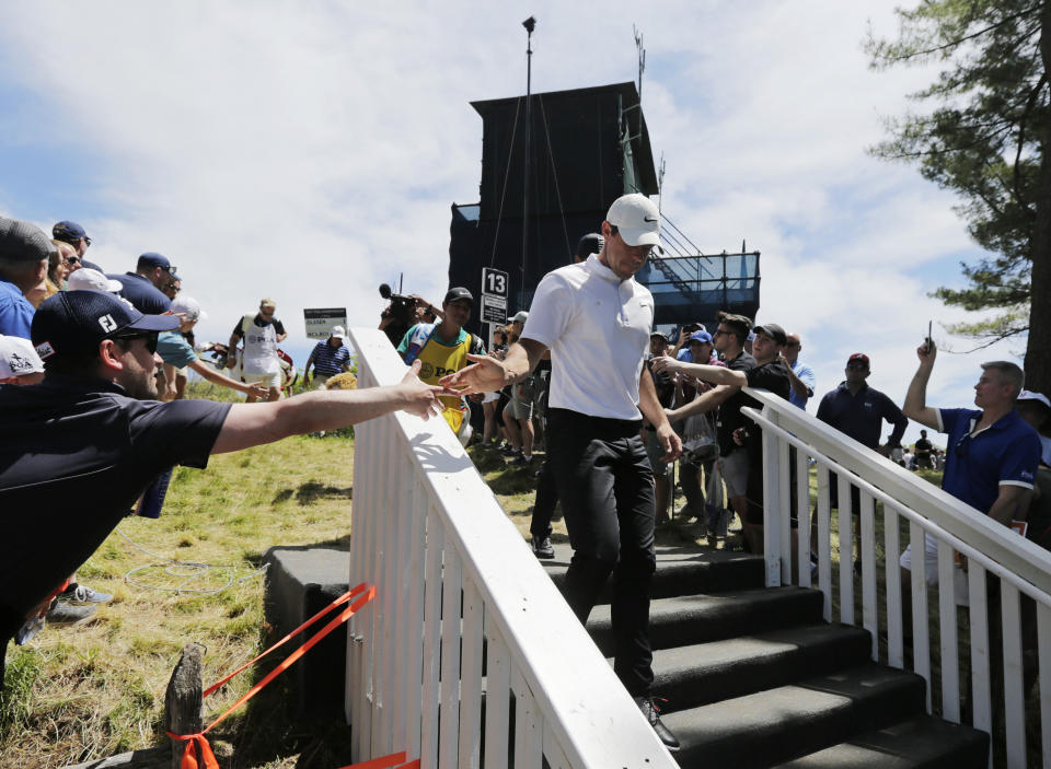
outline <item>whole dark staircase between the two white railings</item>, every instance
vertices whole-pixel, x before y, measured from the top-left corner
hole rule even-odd
[[[569,555],[544,563],[559,586]],[[654,694],[684,769],[986,766],[989,735],[927,715],[921,677],[873,663],[818,591],[763,587],[761,558],[658,547],[652,592]],[[609,604],[588,631],[611,654]]]

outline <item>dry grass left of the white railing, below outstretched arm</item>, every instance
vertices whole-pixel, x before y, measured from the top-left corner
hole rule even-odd
[[[11,646],[3,766],[63,766],[163,744],[164,690],[184,643],[207,646],[206,685],[262,649],[264,583],[255,571],[266,548],[348,540],[353,445],[343,438],[293,438],[215,456],[205,471],[178,468],[162,516],[126,519],[120,529],[163,557],[229,567],[186,587],[219,589],[230,574],[247,579],[210,595],[127,584],[128,571],[159,561],[115,532],[79,571],[85,584],[113,593],[113,603],[85,626],[47,628],[26,646]],[[132,578],[169,589],[186,579],[161,567]],[[206,722],[252,683],[246,672],[208,698]],[[270,688],[257,698],[262,706],[242,708],[217,730],[212,744],[223,766],[310,766],[303,750],[338,743],[328,734],[332,724],[298,734],[282,720],[279,687]],[[337,766],[323,756],[317,766]]]

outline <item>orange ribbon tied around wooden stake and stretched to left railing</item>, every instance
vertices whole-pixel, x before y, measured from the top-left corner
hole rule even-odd
[[[372,598],[376,597],[376,587],[367,587],[367,585],[362,582],[357,587],[354,587],[353,590],[347,591],[346,593],[340,595],[338,598],[333,601],[331,604],[328,604],[328,606],[323,608],[321,611],[319,611],[313,617],[308,619],[305,622],[300,625],[298,628],[292,630],[290,633],[285,636],[285,638],[282,638],[280,641],[278,641],[277,643],[272,645],[269,649],[267,649],[265,652],[256,656],[254,660],[242,665],[241,667],[239,667],[236,671],[228,675],[222,680],[216,684],[212,684],[210,687],[208,687],[208,689],[206,689],[204,692],[205,697],[216,691],[216,689],[221,687],[223,684],[229,681],[231,678],[233,678],[235,675],[238,675],[242,671],[246,669],[252,664],[265,657],[275,649],[278,649],[279,646],[284,645],[290,638],[296,636],[296,633],[300,632],[304,628],[310,627],[315,621],[317,621],[319,619],[324,617],[326,614],[332,611],[332,609],[336,608],[337,606],[342,606],[343,604],[350,601],[350,598],[353,598],[354,596],[362,592],[363,592],[363,595],[361,595],[361,597],[359,597],[357,601],[350,604],[350,606],[348,606],[343,611],[340,611],[335,618],[333,618],[327,625],[325,625],[325,627],[323,627],[321,630],[314,633],[303,645],[301,645],[294,652],[289,654],[277,667],[270,671],[266,675],[266,677],[263,678],[263,680],[261,680],[258,684],[256,684],[251,689],[249,689],[249,691],[243,697],[241,697],[241,699],[239,699],[236,702],[230,706],[222,715],[220,715],[218,719],[212,721],[211,724],[208,726],[208,729],[197,734],[172,734],[171,732],[165,732],[165,734],[168,734],[168,736],[170,736],[172,739],[180,739],[186,743],[186,749],[183,751],[183,758],[180,764],[180,769],[219,769],[219,764],[216,760],[216,756],[211,751],[211,746],[208,745],[208,739],[205,737],[205,735],[208,732],[210,732],[212,729],[215,729],[217,725],[219,725],[219,723],[223,719],[226,719],[228,715],[230,715],[230,713],[232,713],[234,710],[236,710],[242,704],[247,702],[250,699],[255,697],[267,684],[269,684],[272,680],[277,678],[277,676],[279,676],[281,673],[287,671],[297,660],[303,656],[303,654],[305,654],[315,645],[317,645],[317,643],[320,643],[322,639],[325,638],[325,636],[327,636],[333,630],[338,628],[340,625],[346,622],[362,606],[365,606],[367,603],[372,601]],[[199,756],[199,760],[198,760],[198,756]],[[405,754],[402,754],[401,756],[402,757],[400,760],[404,760]],[[391,766],[391,765],[384,765],[384,766]]]

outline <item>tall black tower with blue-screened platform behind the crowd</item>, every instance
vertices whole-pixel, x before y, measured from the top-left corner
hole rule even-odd
[[[658,193],[634,82],[533,94],[530,102],[528,110],[524,96],[472,102],[483,123],[480,201],[452,206],[449,284],[478,296],[483,267],[506,271],[508,316],[529,308],[544,275],[573,261],[577,241],[599,230],[616,198]],[[636,276],[654,292],[658,324],[706,322],[719,308],[754,317],[758,253],[704,256],[667,218],[661,243],[665,258],[651,258]],[[469,326],[482,334],[478,316]]]

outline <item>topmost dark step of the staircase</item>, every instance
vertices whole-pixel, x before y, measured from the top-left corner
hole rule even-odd
[[[555,557],[541,561],[558,590],[563,589],[566,569],[573,550],[568,545],[555,545]],[[657,572],[650,585],[650,596],[668,598],[691,593],[725,593],[763,586],[763,559],[747,552],[702,550],[695,546],[659,546]],[[599,598],[610,603],[612,580]]]

